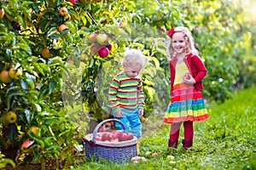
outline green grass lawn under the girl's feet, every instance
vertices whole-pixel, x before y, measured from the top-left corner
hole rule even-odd
[[[195,122],[191,149],[166,151],[170,125],[141,142],[140,156],[148,162],[114,164],[108,161],[84,161],[71,169],[256,169],[256,87],[234,95],[223,104],[208,107],[210,118]],[[183,139],[183,129],[180,141]],[[152,153],[158,153],[157,157]]]

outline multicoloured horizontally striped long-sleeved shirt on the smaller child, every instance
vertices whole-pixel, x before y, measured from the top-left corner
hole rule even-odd
[[[144,94],[142,77],[128,77],[123,71],[113,77],[108,91],[108,100],[114,112],[120,108],[143,109]]]

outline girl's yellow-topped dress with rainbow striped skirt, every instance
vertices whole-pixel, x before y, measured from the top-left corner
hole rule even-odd
[[[204,121],[209,116],[201,91],[194,85],[183,82],[183,75],[189,73],[187,65],[177,62],[171,103],[168,105],[163,122]]]

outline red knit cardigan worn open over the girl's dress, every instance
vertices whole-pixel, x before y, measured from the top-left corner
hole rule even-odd
[[[202,79],[207,75],[207,69],[205,65],[202,63],[200,57],[195,54],[187,54],[183,61],[188,66],[191,76],[195,79],[195,89],[200,91],[201,89],[203,89]],[[177,58],[172,59],[172,61],[170,61],[169,63],[171,73],[171,92],[173,90],[176,64]]]

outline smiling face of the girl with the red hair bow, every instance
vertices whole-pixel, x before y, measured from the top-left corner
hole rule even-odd
[[[178,54],[186,53],[188,41],[185,39],[183,32],[175,32],[172,35],[172,48]]]

